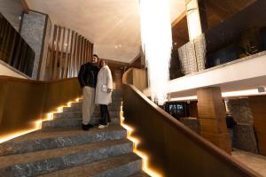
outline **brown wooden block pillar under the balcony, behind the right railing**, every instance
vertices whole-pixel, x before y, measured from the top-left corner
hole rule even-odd
[[[222,150],[231,153],[231,140],[226,128],[225,106],[221,89],[199,89],[197,96],[200,135]]]

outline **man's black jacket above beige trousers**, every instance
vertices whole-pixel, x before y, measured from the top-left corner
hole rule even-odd
[[[90,62],[83,64],[81,66],[78,79],[81,87],[90,86],[91,88],[96,88],[98,77],[98,67],[92,65]]]

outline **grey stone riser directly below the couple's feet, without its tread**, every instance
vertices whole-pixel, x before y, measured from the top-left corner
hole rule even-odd
[[[12,142],[0,146],[0,156],[8,156],[38,150],[51,150],[56,148],[65,148],[75,145],[82,145],[93,142],[104,142],[112,140],[121,140],[127,137],[126,130],[99,132],[94,135],[74,135],[67,137],[48,138],[43,140]]]

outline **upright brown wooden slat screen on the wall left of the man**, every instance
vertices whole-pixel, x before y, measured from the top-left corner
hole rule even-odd
[[[82,64],[91,61],[93,44],[86,37],[66,27],[54,25],[46,80],[76,77]]]

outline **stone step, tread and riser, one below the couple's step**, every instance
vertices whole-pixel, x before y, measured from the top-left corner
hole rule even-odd
[[[130,152],[132,142],[118,140],[5,156],[0,157],[0,173],[1,176],[36,176]]]

